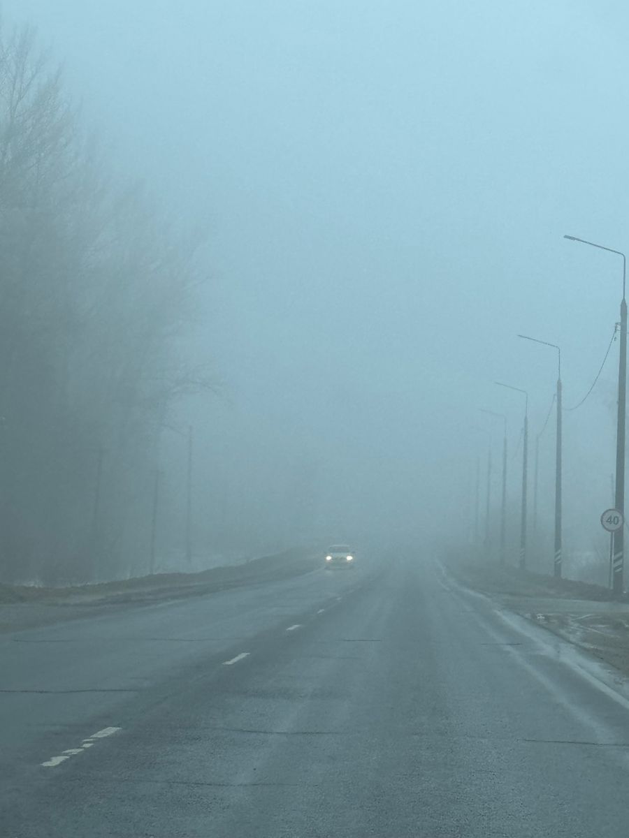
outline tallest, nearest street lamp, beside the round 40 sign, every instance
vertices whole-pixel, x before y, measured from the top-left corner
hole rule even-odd
[[[596,245],[593,241],[578,239],[575,235],[564,235],[569,241],[580,241],[583,245],[597,247],[600,251],[622,256],[622,299],[621,299],[621,347],[618,362],[618,420],[616,424],[616,510],[625,514],[625,415],[626,415],[626,256],[622,251]],[[624,592],[624,527],[614,533],[614,593]]]

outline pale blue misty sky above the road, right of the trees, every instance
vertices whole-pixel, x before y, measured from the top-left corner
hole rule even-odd
[[[465,503],[477,428],[497,456],[479,408],[517,442],[522,401],[493,381],[528,388],[532,435],[546,416],[554,354],[517,333],[561,344],[565,406],[587,391],[621,260],[562,235],[629,249],[625,3],[2,8],[37,25],[117,163],[210,225],[190,341],[231,394],[195,416],[223,475],[215,446],[281,498],[303,461],[330,503],[425,529]],[[566,414],[568,527],[609,500],[616,364],[615,346]]]

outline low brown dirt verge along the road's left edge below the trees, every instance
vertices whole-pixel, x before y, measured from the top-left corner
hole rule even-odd
[[[200,573],[158,573],[122,582],[65,588],[0,585],[0,632],[86,617],[112,607],[202,596],[226,588],[276,582],[320,565],[312,551],[285,551]]]

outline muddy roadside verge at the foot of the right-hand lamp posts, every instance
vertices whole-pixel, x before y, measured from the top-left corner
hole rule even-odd
[[[486,593],[544,629],[629,675],[629,597],[605,587],[555,579],[516,567],[450,562],[457,582]]]

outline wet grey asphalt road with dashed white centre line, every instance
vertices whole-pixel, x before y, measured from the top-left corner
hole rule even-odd
[[[415,556],[5,635],[0,671],[3,838],[629,830],[620,678]]]

